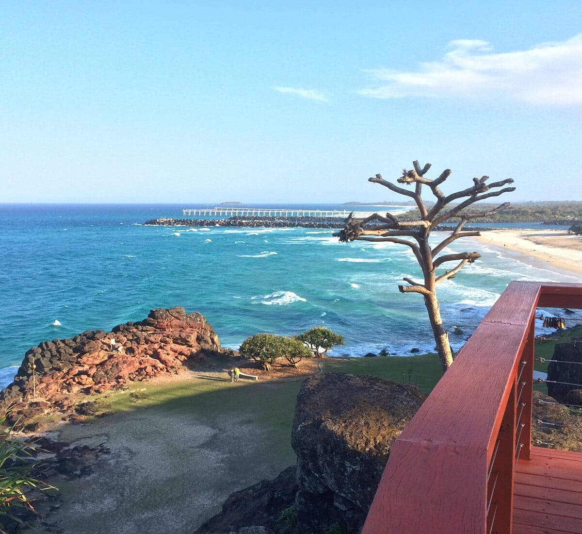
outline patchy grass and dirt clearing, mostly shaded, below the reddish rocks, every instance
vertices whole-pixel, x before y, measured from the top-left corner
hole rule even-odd
[[[36,532],[193,532],[232,491],[294,464],[290,429],[302,380],[231,384],[223,369],[194,370],[139,384],[148,398],[130,411],[61,424],[56,440],[111,453],[90,476],[48,480],[61,497],[37,508],[54,529]]]

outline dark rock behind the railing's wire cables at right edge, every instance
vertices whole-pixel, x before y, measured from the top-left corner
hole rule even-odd
[[[548,380],[557,382],[548,382],[548,395],[558,402],[567,403],[569,392],[582,387],[582,341],[555,346],[552,361],[548,363]]]

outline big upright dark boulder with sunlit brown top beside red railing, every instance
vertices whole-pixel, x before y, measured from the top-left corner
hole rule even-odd
[[[327,373],[304,382],[291,437],[301,534],[334,524],[360,532],[392,443],[424,398],[416,386],[370,376]]]

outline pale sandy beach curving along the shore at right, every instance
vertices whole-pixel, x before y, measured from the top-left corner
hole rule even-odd
[[[536,266],[582,273],[582,236],[567,230],[489,230],[475,239],[523,254]]]

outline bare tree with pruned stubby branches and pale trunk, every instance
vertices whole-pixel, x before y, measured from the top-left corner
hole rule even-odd
[[[404,277],[403,280],[408,282],[409,285],[399,285],[398,289],[401,293],[420,293],[423,295],[432,333],[437,343],[442,372],[445,373],[453,363],[453,353],[450,348],[449,336],[442,324],[436,292],[437,285],[449,280],[449,278],[453,278],[467,263],[473,263],[481,254],[477,252],[441,254],[441,256],[438,254],[456,239],[480,235],[480,232],[462,231],[467,221],[499,213],[499,211],[509,206],[509,202],[500,204],[492,210],[479,213],[466,211],[467,207],[480,200],[514,191],[515,188],[503,188],[506,184],[513,183],[511,178],[487,184],[485,182],[489,177],[482,176],[482,178],[473,178],[474,185],[470,188],[445,195],[439,186],[450,176],[450,169],[445,169],[437,179],[429,180],[424,178],[424,175],[430,169],[430,163],[424,165],[423,168],[420,167],[418,161],[414,161],[413,165],[414,169],[411,171],[404,169],[402,176],[396,181],[406,185],[414,184],[414,190],[403,189],[394,183],[387,182],[379,174],[375,178],[368,179],[368,182],[379,183],[395,193],[413,199],[418,211],[420,211],[418,220],[400,221],[398,217],[391,213],[386,213],[385,215],[374,213],[365,219],[356,219],[353,217],[352,212],[346,219],[345,227],[333,235],[339,237],[340,242],[345,243],[350,241],[383,241],[406,245],[412,249],[418,264],[423,270],[424,282],[420,283]],[[423,185],[428,186],[435,196],[436,201],[432,207],[427,207],[421,197]],[[429,243],[431,232],[437,225],[449,219],[460,219],[460,221],[446,239],[443,239],[437,246],[431,247]],[[458,263],[455,267],[437,275],[437,268],[449,261],[457,261]]]

